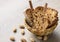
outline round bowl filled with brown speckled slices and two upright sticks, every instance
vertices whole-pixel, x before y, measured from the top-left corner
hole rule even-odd
[[[51,34],[58,24],[58,12],[55,9],[45,6],[38,6],[35,9],[29,1],[30,7],[25,11],[25,26],[35,35],[47,36]]]

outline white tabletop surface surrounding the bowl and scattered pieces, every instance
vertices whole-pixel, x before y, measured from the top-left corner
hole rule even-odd
[[[44,5],[46,2],[48,6],[58,10],[60,16],[60,0],[32,0],[33,6]],[[24,10],[29,8],[28,0],[0,0],[0,42],[11,42],[10,36],[14,36],[16,42],[20,42],[22,37],[30,42],[29,38],[35,36],[25,29],[26,35],[21,35],[19,26],[24,24]],[[60,20],[60,18],[59,18]],[[17,33],[13,33],[13,28],[17,28]],[[37,42],[60,42],[60,21],[54,30],[54,33],[47,41],[37,40]]]

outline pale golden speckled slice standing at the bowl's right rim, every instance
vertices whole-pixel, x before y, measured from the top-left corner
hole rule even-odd
[[[58,12],[55,9],[48,8],[46,11],[47,18],[50,21],[49,27],[57,23]]]

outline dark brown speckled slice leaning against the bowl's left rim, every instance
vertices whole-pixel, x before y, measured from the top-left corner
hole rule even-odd
[[[27,9],[24,12],[26,21],[27,21],[27,23],[29,24],[30,27],[32,27],[32,25],[33,25],[33,16],[32,16],[31,12],[32,12],[31,9]]]

